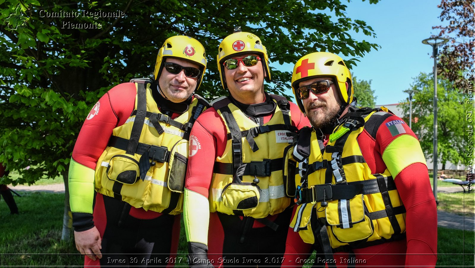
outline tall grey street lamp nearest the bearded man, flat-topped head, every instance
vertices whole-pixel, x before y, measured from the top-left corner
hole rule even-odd
[[[434,57],[434,198],[437,202],[437,48],[448,42],[447,38],[427,38],[422,40],[423,44],[432,46],[432,56]]]

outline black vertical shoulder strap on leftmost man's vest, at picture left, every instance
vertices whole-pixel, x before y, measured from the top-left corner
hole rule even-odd
[[[142,133],[143,122],[147,114],[147,89],[145,84],[136,83],[137,85],[137,110],[135,112],[135,119],[133,121],[132,132],[130,134],[129,144],[125,153],[134,154],[137,151],[137,144],[139,144],[140,134]]]

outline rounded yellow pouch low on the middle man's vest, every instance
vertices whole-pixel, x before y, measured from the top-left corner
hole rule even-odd
[[[250,182],[229,183],[221,193],[223,204],[232,210],[255,209],[259,205],[259,189]]]

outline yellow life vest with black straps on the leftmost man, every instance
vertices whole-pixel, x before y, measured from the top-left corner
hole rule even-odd
[[[153,101],[152,81],[131,82],[137,89],[135,109],[114,128],[97,161],[95,191],[145,211],[179,214],[191,126],[208,103],[195,95],[189,109],[171,119]]]

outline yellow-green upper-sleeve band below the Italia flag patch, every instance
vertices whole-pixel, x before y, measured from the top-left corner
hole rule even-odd
[[[386,147],[382,157],[393,178],[396,178],[399,172],[410,164],[423,163],[427,165],[419,141],[409,134],[400,135],[394,139]]]

